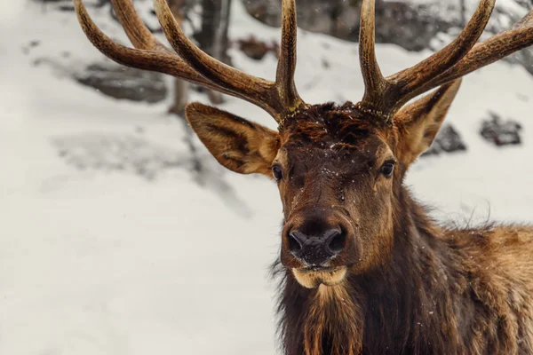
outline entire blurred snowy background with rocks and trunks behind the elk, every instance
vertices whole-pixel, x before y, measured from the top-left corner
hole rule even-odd
[[[149,0],[134,1],[156,36]],[[86,0],[130,45],[108,0]],[[169,0],[212,56],[274,77],[281,0]],[[378,0],[392,74],[457,36],[475,0]],[[360,0],[298,0],[298,91],[362,98]],[[533,6],[498,0],[484,38]],[[0,2],[0,353],[273,354],[282,206],[266,177],[224,170],[183,117],[201,101],[275,128],[255,106],[121,67],[71,1]],[[407,184],[457,225],[533,222],[533,49],[465,77]]]

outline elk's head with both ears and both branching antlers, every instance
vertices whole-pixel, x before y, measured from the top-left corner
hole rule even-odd
[[[246,75],[200,51],[173,18],[165,0],[155,12],[174,51],[150,34],[131,0],[113,0],[136,49],[113,42],[76,12],[85,34],[110,59],[158,71],[245,99],[278,122],[269,130],[217,108],[194,103],[187,120],[227,169],[277,182],[282,198],[282,264],[306,288],[335,285],[348,273],[386,262],[394,238],[395,193],[419,154],[429,147],[454,99],[460,77],[533,43],[533,12],[510,30],[477,43],[495,0],[481,0],[472,20],[442,51],[384,77],[375,55],[375,4],[362,4],[361,102],[307,105],[294,84],[296,9],[282,1],[282,43],[275,82]],[[425,98],[410,99],[438,88]]]

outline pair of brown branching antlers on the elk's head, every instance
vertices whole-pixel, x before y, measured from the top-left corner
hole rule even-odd
[[[91,43],[110,59],[140,69],[180,77],[189,82],[245,99],[277,122],[306,106],[300,99],[296,70],[297,19],[295,0],[282,0],[282,43],[275,82],[248,75],[210,57],[184,35],[166,0],[154,0],[155,12],[172,48],[147,29],[132,0],[112,0],[116,15],[135,49],[115,43],[89,17],[82,0],[74,0],[78,20]],[[389,120],[407,101],[533,44],[533,11],[513,28],[475,44],[487,26],[495,0],[481,0],[473,18],[457,39],[414,67],[384,77],[376,59],[375,0],[363,0],[360,62],[365,94],[358,104],[365,112]]]

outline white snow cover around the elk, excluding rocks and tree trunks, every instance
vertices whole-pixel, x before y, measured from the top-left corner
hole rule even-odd
[[[231,36],[277,38],[238,4]],[[267,266],[278,252],[282,216],[275,186],[222,170],[205,150],[211,172],[198,184],[183,126],[164,114],[168,103],[115,101],[53,67],[32,65],[43,57],[102,58],[73,13],[44,16],[27,3],[23,17],[3,6],[0,353],[272,354],[275,283]],[[107,10],[91,13],[103,19]],[[124,39],[111,22],[99,23]],[[29,48],[36,39],[40,45]],[[362,97],[356,45],[303,32],[298,40],[297,83],[307,102]],[[257,63],[233,54],[238,67],[274,75],[274,58]],[[427,54],[378,47],[386,73]],[[532,89],[533,77],[505,63],[467,77],[449,122],[468,151],[426,158],[408,179],[436,217],[533,222]],[[224,108],[274,127],[238,100]],[[525,144],[496,149],[483,141],[478,130],[488,109],[521,122]],[[58,141],[98,136],[140,139],[183,164],[149,180],[129,170],[76,170],[60,157]]]

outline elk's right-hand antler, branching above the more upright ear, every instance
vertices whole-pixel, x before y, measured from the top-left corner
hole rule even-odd
[[[459,36],[414,67],[383,77],[375,52],[375,0],[363,0],[360,61],[365,94],[358,106],[385,120],[421,93],[449,83],[533,44],[533,11],[513,29],[475,44],[489,22],[495,0],[481,0]]]

